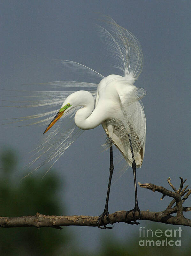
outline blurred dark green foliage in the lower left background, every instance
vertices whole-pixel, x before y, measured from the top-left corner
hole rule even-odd
[[[13,180],[16,164],[13,152],[7,151],[1,155],[0,216],[26,216],[35,215],[36,212],[64,215],[58,201],[61,184],[55,172],[43,179],[31,175],[21,181]],[[66,229],[0,228],[0,255],[57,255],[69,238]]]

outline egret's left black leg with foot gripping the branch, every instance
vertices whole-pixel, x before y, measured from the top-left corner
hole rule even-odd
[[[109,219],[109,212],[108,212],[108,202],[109,202],[109,195],[110,195],[110,187],[111,187],[111,178],[112,178],[112,175],[113,175],[113,148],[112,148],[112,138],[109,138],[110,139],[110,177],[109,177],[109,183],[108,183],[108,188],[107,188],[107,197],[106,197],[106,203],[105,203],[105,208],[104,208],[104,211],[103,213],[99,216],[96,224],[98,226],[98,228],[102,228],[102,229],[106,229],[106,228],[113,228],[113,227],[106,227],[103,219],[104,219],[104,216],[106,216],[107,220],[110,222],[110,219]],[[112,224],[110,222],[110,224]],[[102,226],[103,227],[100,227]]]

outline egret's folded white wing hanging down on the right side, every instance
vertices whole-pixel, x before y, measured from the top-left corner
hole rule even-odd
[[[137,167],[141,167],[145,151],[146,119],[138,91],[137,88],[130,90],[130,87],[129,89],[126,87],[123,95],[119,94],[120,110],[124,119],[119,121],[120,130],[119,128],[117,130],[125,148],[124,155],[128,159],[128,163],[131,165],[135,160]]]

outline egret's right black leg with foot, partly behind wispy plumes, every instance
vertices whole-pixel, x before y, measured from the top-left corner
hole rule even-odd
[[[130,134],[128,134],[128,137],[129,137],[129,143],[130,143],[130,147],[131,147],[132,159],[134,159],[134,153],[133,153],[133,147],[132,147],[132,142],[131,142]],[[139,222],[136,221],[135,212],[139,212],[139,220],[141,220],[141,211],[139,209],[138,199],[137,199],[137,180],[136,180],[136,163],[135,163],[135,160],[133,160],[132,169],[133,169],[133,175],[134,175],[135,207],[134,207],[134,209],[126,212],[125,220],[127,219],[127,215],[129,214],[129,212],[133,212],[134,223],[132,223],[131,221],[125,221],[125,222],[128,223],[128,224],[136,224],[136,225],[138,225]]]

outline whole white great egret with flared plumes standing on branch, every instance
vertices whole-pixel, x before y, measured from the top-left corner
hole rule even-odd
[[[108,48],[111,50],[111,55],[117,60],[115,67],[119,68],[122,74],[104,77],[80,63],[62,60],[66,66],[82,68],[82,70],[86,70],[102,80],[99,84],[74,81],[58,81],[48,84],[53,85],[54,88],[72,87],[76,89],[84,87],[97,90],[80,90],[73,93],[63,91],[38,92],[37,100],[34,102],[30,101],[32,102],[30,106],[52,108],[61,104],[64,100],[61,108],[57,109],[57,115],[51,122],[50,120],[52,118],[50,115],[53,115],[55,110],[21,118],[22,121],[40,118],[40,121],[34,122],[35,124],[50,122],[44,131],[44,133],[46,133],[59,118],[63,116],[60,121],[58,121],[58,125],[55,124],[52,129],[44,135],[46,136],[44,142],[36,149],[38,155],[30,164],[33,164],[42,158],[42,156],[45,156],[45,160],[39,164],[34,171],[50,161],[53,161],[54,164],[71,143],[80,136],[83,130],[93,129],[99,124],[102,124],[104,131],[109,137],[110,148],[110,176],[106,204],[103,213],[99,216],[97,221],[98,227],[103,229],[111,228],[106,227],[103,219],[104,216],[106,216],[107,220],[110,222],[108,201],[114,168],[112,144],[119,149],[128,165],[132,166],[134,172],[135,207],[126,212],[126,215],[129,212],[133,212],[134,223],[137,224],[135,212],[138,211],[139,219],[141,219],[141,212],[137,201],[136,167],[141,167],[143,161],[146,136],[146,120],[144,108],[141,103],[141,98],[145,96],[146,92],[144,89],[137,88],[134,85],[134,81],[138,78],[142,69],[141,46],[131,32],[120,27],[110,17],[106,17],[105,24],[108,28],[100,27],[100,30],[109,46]],[[39,100],[39,98],[41,100]],[[51,166],[53,164],[51,164]]]

